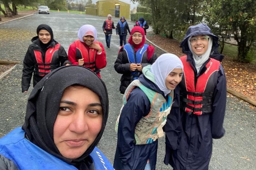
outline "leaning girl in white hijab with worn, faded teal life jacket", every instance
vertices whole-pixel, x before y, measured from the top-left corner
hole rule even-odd
[[[116,170],[155,170],[157,139],[170,113],[175,87],[180,83],[183,65],[174,54],[160,55],[142,69],[123,97],[116,121]]]

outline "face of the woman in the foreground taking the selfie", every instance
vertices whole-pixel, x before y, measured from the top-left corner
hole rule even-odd
[[[62,156],[79,158],[94,142],[102,126],[99,96],[83,86],[65,89],[53,127],[54,143]]]

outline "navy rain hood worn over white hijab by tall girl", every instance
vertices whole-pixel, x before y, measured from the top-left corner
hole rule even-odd
[[[184,54],[186,54],[186,55],[192,54],[192,52],[189,49],[189,44],[188,44],[189,41],[188,41],[188,39],[190,37],[197,36],[197,35],[208,35],[208,36],[210,36],[210,38],[212,39],[212,48],[210,49],[209,57],[214,58],[214,59],[219,60],[219,61],[222,61],[224,56],[221,55],[218,52],[218,48],[219,48],[218,40],[219,40],[219,37],[217,37],[216,35],[212,34],[212,31],[211,31],[210,27],[207,26],[204,23],[200,23],[200,24],[197,24],[195,26],[190,26],[188,28],[188,31],[186,32],[186,34],[184,36],[184,39],[180,43],[180,47],[182,48],[182,52]]]

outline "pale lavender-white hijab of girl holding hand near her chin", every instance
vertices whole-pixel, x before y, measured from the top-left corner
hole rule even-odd
[[[97,39],[97,30],[92,25],[83,25],[79,28],[77,37],[80,39],[81,42],[84,42],[83,37],[86,35],[92,35],[94,37],[94,41]],[[93,42],[94,42],[93,41]]]

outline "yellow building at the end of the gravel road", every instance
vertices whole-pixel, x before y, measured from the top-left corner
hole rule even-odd
[[[112,17],[130,19],[130,4],[117,0],[103,0],[96,2],[97,15],[107,17],[111,14]]]

